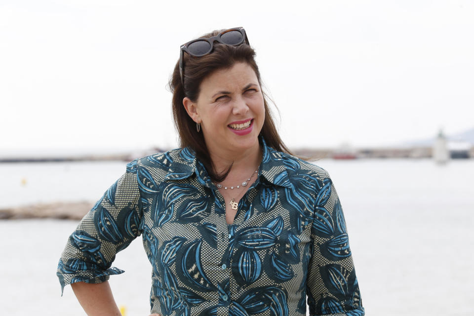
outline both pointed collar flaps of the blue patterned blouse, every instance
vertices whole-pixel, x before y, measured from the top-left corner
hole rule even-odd
[[[263,155],[259,167],[259,175],[274,185],[291,188],[282,153],[267,146],[262,136],[260,136],[260,142],[263,148]],[[169,167],[164,181],[186,179],[196,174],[197,181],[202,185],[215,187],[206,169],[202,163],[197,160],[196,152],[193,149],[189,147],[183,148],[172,160],[173,162]]]

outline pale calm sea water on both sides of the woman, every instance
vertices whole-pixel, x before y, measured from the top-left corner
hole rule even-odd
[[[339,194],[368,316],[473,315],[474,160],[319,160]],[[0,207],[91,200],[125,162],[0,164]],[[77,222],[0,221],[0,314],[85,315],[60,297],[59,255]],[[148,316],[151,267],[141,240],[111,277],[127,316]]]

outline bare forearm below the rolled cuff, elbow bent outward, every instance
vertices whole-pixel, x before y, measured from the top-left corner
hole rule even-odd
[[[108,281],[96,284],[76,282],[71,287],[88,316],[121,315]]]

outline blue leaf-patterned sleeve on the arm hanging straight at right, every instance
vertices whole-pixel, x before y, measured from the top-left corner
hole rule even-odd
[[[316,196],[307,295],[310,315],[363,316],[341,202],[327,171]]]

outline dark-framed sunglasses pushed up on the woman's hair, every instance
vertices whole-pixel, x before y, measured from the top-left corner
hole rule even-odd
[[[247,45],[248,39],[245,35],[245,30],[243,28],[233,28],[229,30],[222,31],[221,33],[213,36],[211,38],[199,38],[196,40],[191,40],[186,44],[181,45],[180,56],[179,56],[179,76],[181,77],[181,83],[184,85],[184,75],[183,75],[183,58],[184,53],[187,52],[190,56],[201,57],[207,54],[210,54],[212,48],[214,47],[214,41],[217,41],[221,44],[238,46],[245,42]]]

